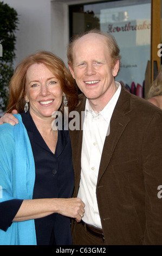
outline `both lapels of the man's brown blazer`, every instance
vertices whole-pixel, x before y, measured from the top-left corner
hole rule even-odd
[[[72,151],[73,151],[73,165],[75,170],[75,191],[77,193],[79,189],[80,182],[80,173],[81,173],[81,150],[82,150],[82,136],[83,131],[81,127],[81,111],[85,111],[86,97],[82,96],[80,106],[76,109],[76,111],[80,114],[80,131],[74,130],[70,131],[70,138],[72,141]],[[130,119],[127,116],[127,113],[131,112],[131,94],[127,92],[127,90],[121,87],[121,93],[116,103],[111,123],[110,123],[110,132],[109,135],[106,136],[105,143],[103,145],[99,175],[98,175],[98,183],[105,172],[109,162],[111,161],[111,157],[113,155],[116,144],[120,139],[120,136],[125,130],[125,127],[129,123]]]

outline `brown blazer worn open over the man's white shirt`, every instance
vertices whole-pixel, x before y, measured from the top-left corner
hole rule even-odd
[[[80,99],[79,113],[85,109],[86,97],[81,95]],[[77,197],[82,130],[70,131],[70,138]],[[162,245],[159,185],[162,111],[122,87],[103,146],[96,186],[106,245]]]

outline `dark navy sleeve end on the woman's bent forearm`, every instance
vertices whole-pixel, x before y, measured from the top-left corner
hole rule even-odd
[[[22,202],[21,199],[12,199],[0,203],[0,229],[6,231],[10,227]]]

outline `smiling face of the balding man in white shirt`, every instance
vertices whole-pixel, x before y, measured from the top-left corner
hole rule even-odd
[[[90,101],[108,102],[114,92],[119,61],[112,67],[105,36],[92,33],[77,40],[73,58],[73,67],[69,69],[82,93]]]

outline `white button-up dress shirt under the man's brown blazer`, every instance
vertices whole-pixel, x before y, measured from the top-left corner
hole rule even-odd
[[[81,180],[78,197],[86,205],[82,220],[98,228],[102,228],[102,225],[96,200],[96,183],[103,144],[105,137],[111,132],[109,130],[109,123],[121,91],[120,83],[115,82],[115,85],[118,89],[100,113],[95,114],[88,99],[86,100],[83,123]]]

